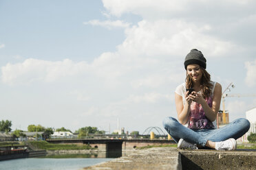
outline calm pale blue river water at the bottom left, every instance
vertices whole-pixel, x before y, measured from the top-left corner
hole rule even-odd
[[[80,170],[113,158],[21,158],[3,160],[2,170]]]

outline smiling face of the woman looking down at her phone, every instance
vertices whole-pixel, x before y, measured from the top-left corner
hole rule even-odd
[[[192,78],[193,82],[200,82],[202,79],[202,69],[198,64],[189,64],[186,66],[186,73]]]

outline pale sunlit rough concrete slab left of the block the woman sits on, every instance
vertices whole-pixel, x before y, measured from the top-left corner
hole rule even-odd
[[[175,147],[155,147],[136,150],[127,156],[116,158],[84,169],[182,169],[180,156]]]

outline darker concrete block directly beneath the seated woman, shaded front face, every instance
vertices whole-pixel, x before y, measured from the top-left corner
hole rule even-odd
[[[178,150],[182,169],[256,169],[256,151]]]

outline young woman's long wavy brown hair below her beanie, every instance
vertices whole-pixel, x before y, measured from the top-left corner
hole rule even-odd
[[[202,89],[202,96],[204,99],[210,97],[212,95],[212,88],[213,84],[211,84],[211,75],[200,66],[202,71],[202,79],[201,79],[201,89]],[[193,80],[192,78],[186,73],[186,88],[193,88]]]

